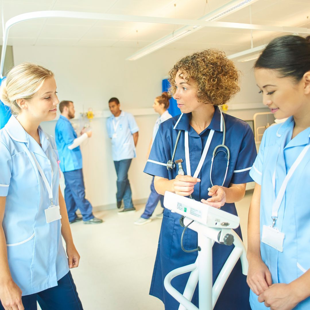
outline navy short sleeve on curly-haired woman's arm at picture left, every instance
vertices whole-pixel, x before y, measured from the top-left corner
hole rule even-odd
[[[159,130],[157,131],[157,135],[151,148],[150,156],[148,157],[148,161],[146,162],[143,172],[149,175],[169,179],[167,161],[168,159],[165,155],[164,141],[162,139],[162,126],[159,126]]]

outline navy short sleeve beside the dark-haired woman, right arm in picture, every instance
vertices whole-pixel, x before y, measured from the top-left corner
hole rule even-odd
[[[231,183],[242,184],[253,181],[249,172],[253,166],[256,155],[257,152],[253,131],[251,130],[250,126],[247,125],[239,149]]]

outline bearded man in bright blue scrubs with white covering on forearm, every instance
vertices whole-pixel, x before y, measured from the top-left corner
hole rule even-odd
[[[82,172],[82,153],[79,145],[91,137],[91,131],[84,132],[80,137],[76,134],[69,119],[74,117],[72,101],[61,101],[59,104],[60,117],[55,128],[55,140],[60,159],[60,169],[64,173],[64,200],[66,202],[69,222],[74,223],[83,219],[84,224],[99,224],[102,219],[92,214],[92,206],[85,199],[84,179]],[[76,214],[81,211],[82,216]]]

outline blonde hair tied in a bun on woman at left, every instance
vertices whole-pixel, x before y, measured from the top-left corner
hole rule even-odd
[[[42,66],[23,63],[13,67],[2,81],[0,89],[1,101],[11,108],[12,114],[20,113],[17,99],[30,100],[42,87],[47,78],[54,77],[54,73]]]

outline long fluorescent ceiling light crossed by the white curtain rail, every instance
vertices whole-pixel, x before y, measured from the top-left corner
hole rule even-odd
[[[219,18],[222,18],[228,14],[231,14],[235,11],[240,10],[243,7],[246,7],[254,2],[256,2],[258,0],[234,0],[234,1],[230,1],[228,4],[220,7],[217,10],[214,10],[204,16],[202,16],[201,18],[199,18],[198,20],[205,20],[205,21],[215,21]],[[171,42],[174,42],[176,40],[179,40],[180,38],[187,36],[189,33],[194,32],[198,29],[201,29],[203,26],[184,26],[178,30],[176,30],[173,33],[170,33],[168,36],[163,37],[149,45],[147,45],[146,47],[142,48],[141,50],[137,51],[136,53],[134,53],[133,55],[131,55],[130,57],[128,57],[126,60],[137,60],[145,55],[148,55],[168,44],[170,44]]]

